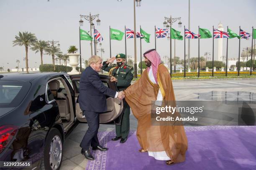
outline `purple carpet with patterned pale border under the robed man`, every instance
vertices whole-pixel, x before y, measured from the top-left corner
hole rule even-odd
[[[256,126],[185,127],[188,150],[185,162],[166,165],[140,153],[136,132],[127,142],[111,141],[115,132],[100,132],[107,152],[93,152],[86,170],[256,170]]]

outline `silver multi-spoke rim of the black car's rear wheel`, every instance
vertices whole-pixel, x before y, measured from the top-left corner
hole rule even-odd
[[[51,140],[49,150],[49,162],[52,170],[56,170],[59,167],[62,157],[62,143],[61,138],[55,135]]]

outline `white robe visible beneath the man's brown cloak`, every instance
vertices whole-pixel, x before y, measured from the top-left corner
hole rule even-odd
[[[149,77],[150,81],[152,81],[154,84],[156,84],[156,80],[154,79],[154,75],[153,75],[151,67],[150,67],[149,72],[148,72],[148,77]],[[159,89],[155,104],[157,106],[161,107],[162,101],[163,101],[163,96],[162,96],[161,91]],[[165,151],[161,151],[161,152],[150,152],[150,151],[148,151],[148,156],[152,156],[156,160],[171,160],[171,158],[168,157],[168,155],[166,154]]]

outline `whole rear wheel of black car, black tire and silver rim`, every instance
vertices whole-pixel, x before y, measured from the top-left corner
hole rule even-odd
[[[44,145],[44,156],[41,160],[41,170],[59,170],[63,156],[63,140],[56,128],[51,128]]]

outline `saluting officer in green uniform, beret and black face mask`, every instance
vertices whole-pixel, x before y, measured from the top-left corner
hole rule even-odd
[[[118,66],[108,66],[115,59]],[[109,72],[110,81],[116,83],[118,91],[123,91],[131,85],[133,68],[125,64],[125,54],[120,53],[108,61],[104,61],[102,70]],[[130,130],[130,106],[125,102],[124,107],[122,125],[115,125],[116,137],[112,139],[114,141],[121,139],[120,143],[126,142]]]

